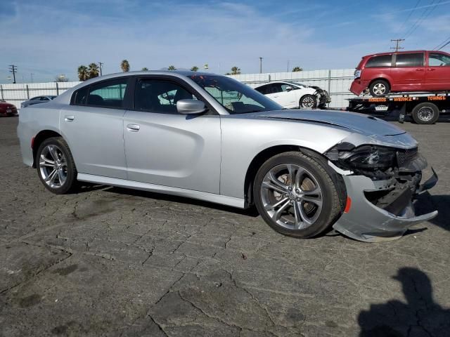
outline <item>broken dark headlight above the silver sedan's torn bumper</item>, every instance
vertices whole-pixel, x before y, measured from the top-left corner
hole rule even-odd
[[[392,147],[363,145],[336,147],[326,152],[326,157],[345,169],[361,169],[366,171],[384,170],[394,166],[397,150]]]

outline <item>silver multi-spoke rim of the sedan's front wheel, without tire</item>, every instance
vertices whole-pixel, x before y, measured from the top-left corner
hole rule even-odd
[[[295,164],[270,169],[262,180],[261,198],[267,215],[289,230],[313,225],[323,205],[322,190],[316,178]]]

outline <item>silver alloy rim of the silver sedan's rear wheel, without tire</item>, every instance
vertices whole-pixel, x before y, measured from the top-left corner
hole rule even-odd
[[[39,172],[51,188],[60,188],[68,178],[68,164],[63,151],[57,145],[47,145],[39,157]]]

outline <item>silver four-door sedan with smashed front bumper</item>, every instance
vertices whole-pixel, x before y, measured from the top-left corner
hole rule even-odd
[[[127,72],[91,79],[23,109],[25,164],[53,193],[79,182],[248,208],[274,230],[333,227],[365,242],[401,237],[426,161],[408,133],[374,117],[283,110],[229,77]]]

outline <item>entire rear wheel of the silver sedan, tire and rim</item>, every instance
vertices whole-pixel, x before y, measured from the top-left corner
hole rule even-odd
[[[37,175],[52,193],[72,192],[77,185],[77,168],[68,143],[62,137],[52,137],[39,145],[36,153]]]

